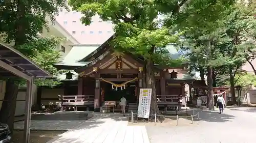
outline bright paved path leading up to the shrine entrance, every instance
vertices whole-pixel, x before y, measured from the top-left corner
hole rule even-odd
[[[127,126],[126,118],[95,117],[47,143],[149,143],[145,126]]]

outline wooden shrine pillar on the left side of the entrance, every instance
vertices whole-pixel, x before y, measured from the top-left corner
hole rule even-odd
[[[100,74],[95,73],[95,91],[94,91],[94,111],[100,112]],[[99,80],[99,87],[96,88],[96,80]]]

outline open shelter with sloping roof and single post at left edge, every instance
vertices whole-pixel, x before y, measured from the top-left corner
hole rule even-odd
[[[23,142],[29,143],[33,78],[47,78],[52,75],[29,60],[24,54],[3,42],[0,42],[0,67],[1,77],[21,77],[27,80]]]

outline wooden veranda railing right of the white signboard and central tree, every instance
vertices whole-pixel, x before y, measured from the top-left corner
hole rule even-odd
[[[181,104],[178,95],[157,95],[157,104]]]

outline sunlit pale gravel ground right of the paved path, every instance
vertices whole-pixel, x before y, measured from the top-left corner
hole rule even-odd
[[[256,108],[237,107],[218,111],[198,110],[200,121],[194,126],[147,126],[151,143],[253,143]]]

